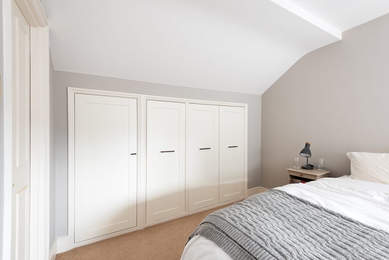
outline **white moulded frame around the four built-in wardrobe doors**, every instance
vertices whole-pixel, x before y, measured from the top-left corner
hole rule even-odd
[[[108,89],[108,86],[107,86]],[[76,93],[80,94],[91,94],[91,95],[106,95],[106,96],[116,96],[116,97],[129,97],[137,99],[137,115],[138,115],[138,169],[137,169],[137,226],[134,228],[118,231],[115,233],[107,234],[97,238],[85,240],[82,242],[74,243],[74,95]],[[248,104],[246,103],[231,103],[231,102],[222,102],[222,101],[208,101],[208,100],[198,100],[198,99],[187,99],[187,98],[174,98],[174,97],[164,97],[164,96],[152,96],[144,94],[133,94],[127,92],[117,92],[117,91],[107,91],[107,90],[96,90],[96,89],[86,89],[86,88],[67,88],[67,117],[68,117],[68,226],[67,226],[67,235],[58,238],[57,253],[62,253],[79,247],[82,245],[90,244],[93,242],[101,241],[107,238],[119,236],[126,234],[135,230],[140,230],[145,227],[149,227],[155,224],[159,224],[168,220],[179,218],[185,215],[194,214],[197,212],[204,211],[206,209],[211,209],[214,207],[226,205],[229,203],[240,201],[241,199],[231,200],[224,203],[219,203],[216,205],[208,206],[202,209],[188,211],[187,208],[187,191],[185,191],[185,213],[160,219],[157,221],[152,221],[146,223],[146,103],[147,100],[156,100],[156,101],[171,101],[171,102],[181,102],[185,103],[185,107],[189,103],[195,104],[207,104],[207,105],[225,105],[225,106],[241,106],[245,108],[245,197],[247,197],[247,180],[248,180],[248,160],[247,160],[247,135],[248,135]],[[185,108],[187,111],[187,109]],[[187,113],[187,112],[186,112]],[[186,114],[187,116],[187,114]],[[185,123],[186,124],[186,123]],[[187,131],[187,127],[186,130]],[[186,133],[187,134],[187,133]],[[186,144],[185,144],[186,145]],[[186,183],[185,183],[186,187]]]

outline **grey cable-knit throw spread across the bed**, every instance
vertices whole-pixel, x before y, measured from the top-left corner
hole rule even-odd
[[[209,214],[196,235],[235,260],[389,259],[389,233],[279,190]]]

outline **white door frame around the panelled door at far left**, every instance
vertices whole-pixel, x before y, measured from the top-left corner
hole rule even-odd
[[[3,0],[4,212],[3,250],[11,258],[12,224],[12,1]],[[49,259],[50,50],[39,0],[15,0],[30,25],[30,260]]]

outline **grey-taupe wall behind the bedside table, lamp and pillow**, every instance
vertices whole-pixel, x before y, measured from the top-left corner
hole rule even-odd
[[[288,182],[305,141],[333,177],[350,151],[389,152],[389,15],[302,57],[262,95],[262,185]],[[300,157],[300,162],[303,158]],[[302,160],[302,161],[301,161]]]

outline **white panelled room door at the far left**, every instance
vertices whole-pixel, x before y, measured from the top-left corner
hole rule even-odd
[[[30,26],[12,2],[12,251],[29,259],[30,235]]]

